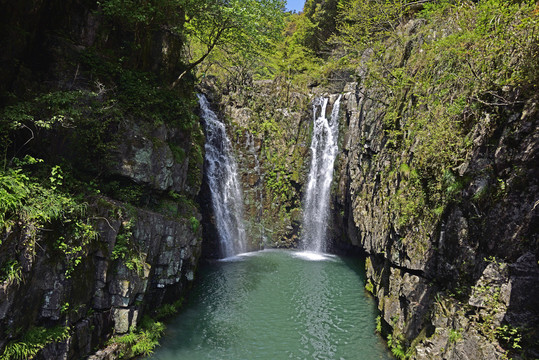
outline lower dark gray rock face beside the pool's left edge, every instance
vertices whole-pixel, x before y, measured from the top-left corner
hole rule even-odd
[[[201,229],[195,231],[189,218],[131,211],[129,218],[114,215],[127,212],[122,203],[97,199],[92,212],[100,236],[70,277],[61,257],[49,255],[55,253],[53,243],[38,240],[40,250],[23,272],[24,282],[0,289],[0,332],[12,334],[8,329],[29,324],[66,324],[69,338],[46,346],[40,356],[80,359],[108,336],[136,327],[143,314],[184,296],[198,264]],[[197,213],[192,217],[200,220]],[[128,224],[129,251],[118,257],[114,254],[126,246],[119,239]],[[0,346],[9,335],[4,339]]]

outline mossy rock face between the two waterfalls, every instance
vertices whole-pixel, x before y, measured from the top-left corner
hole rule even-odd
[[[309,156],[312,99],[279,80],[255,81],[249,91],[225,92],[211,79],[204,87],[225,121],[234,146],[243,187],[248,248],[296,245],[301,222],[300,188],[308,171],[305,160]],[[211,219],[211,209],[207,208],[207,218]],[[211,224],[205,225],[208,231]],[[209,233],[205,236],[209,242],[212,237]]]

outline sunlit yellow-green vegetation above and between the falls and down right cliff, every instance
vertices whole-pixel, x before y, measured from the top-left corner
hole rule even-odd
[[[384,181],[404,182],[389,200],[399,226],[423,224],[424,235],[465,185],[457,169],[469,159],[472,130],[483,124],[488,132],[504,109],[522,106],[537,92],[537,27],[533,1],[309,0],[304,12],[286,14],[281,37],[268,51],[232,57],[217,51],[199,75],[215,76],[223,92],[236,91],[257,109],[249,131],[282,150],[267,160],[270,180],[279,179],[277,189],[270,181],[268,190],[283,198],[283,207],[290,207],[295,192],[294,170],[286,166],[294,139],[275,109],[305,107],[289,94],[316,86],[349,81],[372,89],[384,102],[388,145],[403,159],[414,145],[411,163],[384,172]],[[276,80],[282,96],[251,96],[260,79]],[[503,193],[503,179],[498,186],[491,192]]]

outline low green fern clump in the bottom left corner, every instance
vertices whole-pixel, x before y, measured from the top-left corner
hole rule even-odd
[[[46,345],[69,338],[69,327],[34,327],[18,341],[9,342],[0,355],[0,360],[33,359]]]

